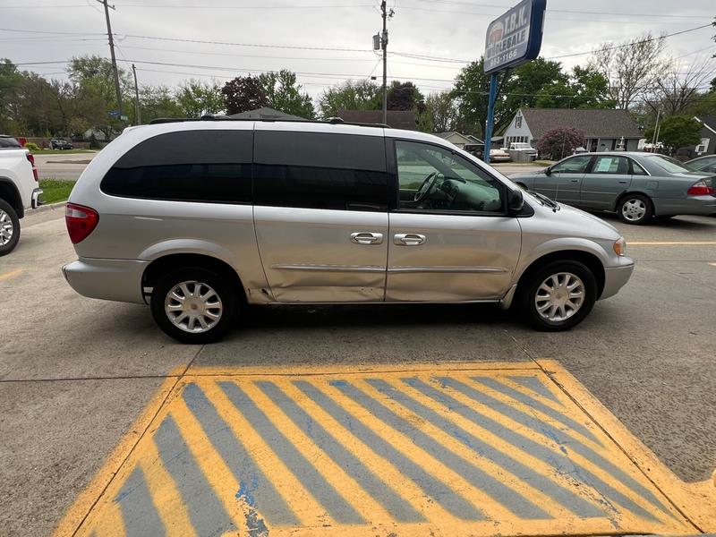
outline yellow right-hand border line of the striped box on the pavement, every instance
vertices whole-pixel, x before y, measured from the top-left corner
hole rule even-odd
[[[540,365],[558,386],[573,397],[579,407],[609,434],[623,453],[643,472],[689,520],[703,533],[716,532],[716,471],[712,479],[686,483],[661,464],[651,449],[637,439],[599,399],[584,388],[559,362],[539,360]]]

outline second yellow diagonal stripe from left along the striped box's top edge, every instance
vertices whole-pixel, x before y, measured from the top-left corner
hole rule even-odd
[[[279,388],[282,388],[280,384]],[[366,494],[343,468],[326,456],[268,396],[252,385],[246,385],[243,390],[268,415],[270,421],[294,443],[301,454],[311,461],[328,483],[336,490],[340,490],[341,495],[356,507],[366,520],[376,520],[378,524],[391,522],[392,519],[385,509]]]

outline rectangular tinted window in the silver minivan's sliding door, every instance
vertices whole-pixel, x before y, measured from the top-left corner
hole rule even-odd
[[[253,195],[273,207],[388,210],[385,139],[256,131]]]

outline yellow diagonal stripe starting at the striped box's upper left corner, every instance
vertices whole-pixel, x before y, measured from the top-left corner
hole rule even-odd
[[[326,510],[311,496],[308,490],[305,490],[291,469],[276,456],[271,447],[260,437],[260,434],[253,429],[251,423],[243,417],[243,414],[236,410],[221,388],[218,388],[214,382],[208,382],[202,383],[201,389],[214,404],[217,413],[225,422],[229,423],[234,436],[242,439],[249,455],[273,483],[278,493],[295,507],[295,514],[301,519],[303,525],[328,524],[330,517]]]

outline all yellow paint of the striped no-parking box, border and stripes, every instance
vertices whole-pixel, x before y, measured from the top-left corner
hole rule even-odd
[[[475,376],[493,379],[514,391],[507,389],[503,393],[500,391],[502,388],[493,389],[471,379]],[[541,383],[540,391],[533,391],[528,385],[509,379],[510,376],[530,377],[533,382]],[[482,403],[475,401],[458,392],[456,388],[443,386],[435,377],[447,377],[470,388],[479,388],[484,396],[491,399],[481,399]],[[438,393],[452,397],[458,406],[446,405],[431,398],[427,395],[430,392],[422,393],[417,386],[409,386],[403,382],[402,379],[405,378],[422,380]],[[297,380],[306,383],[305,386],[310,386],[317,394],[322,394],[323,398],[317,396],[314,400],[313,392],[304,392],[294,384]],[[380,380],[383,384],[377,385],[369,380]],[[243,398],[230,398],[229,395],[234,392],[225,391],[219,384],[221,382],[232,383],[240,389],[236,393],[243,393],[247,399],[244,401]],[[272,389],[276,391],[264,389],[260,382],[271,383]],[[196,385],[196,388],[192,387],[192,393],[200,390],[206,399],[203,396],[200,399],[192,396],[193,398],[185,400],[183,390],[190,384]],[[396,391],[381,388],[383,386]],[[498,387],[499,385],[494,386]],[[544,389],[558,402],[543,396],[541,392]],[[286,398],[278,398],[275,395],[277,390]],[[353,393],[351,390],[360,390],[356,393],[368,397],[364,401],[369,404],[385,407],[398,423],[390,425],[384,422],[379,418],[378,410],[371,411],[366,408],[360,397],[354,400],[353,396],[349,395]],[[400,397],[394,398],[394,393],[410,397],[419,406],[408,407],[401,404]],[[527,405],[526,402],[519,401],[521,397],[516,394],[530,396],[545,406],[540,410]],[[247,405],[247,401],[252,405]],[[301,409],[300,412],[296,411],[293,405]],[[463,406],[482,413],[486,418],[485,422],[473,422],[468,419],[469,415],[463,416],[456,412],[457,408]],[[224,436],[216,436],[216,425],[211,424],[220,422],[216,422],[216,418],[210,418],[202,408],[210,408],[210,415],[217,415],[226,422],[228,430],[222,429]],[[328,411],[329,408],[337,408],[340,413],[334,414],[334,410]],[[265,416],[266,424],[261,424],[263,418],[259,420],[256,412]],[[530,421],[519,417],[525,413],[530,416]],[[584,426],[589,433],[570,430],[561,416],[579,423],[580,427]],[[186,446],[186,451],[176,452],[176,455],[181,455],[181,458],[176,459],[182,461],[179,465],[172,464],[171,458],[166,458],[167,455],[175,453],[174,447],[166,445],[167,439],[172,437],[165,435],[158,442],[154,439],[154,434],[160,427],[166,430],[163,427],[165,420],[175,423],[175,429],[173,426],[172,430],[178,432],[178,439]],[[499,423],[506,432],[490,426],[489,420]],[[545,430],[554,430],[557,436],[554,439],[547,438],[541,434],[539,427],[533,428],[532,420],[537,424],[543,423]],[[264,430],[265,427],[268,429]],[[268,430],[273,430],[272,428],[279,430],[282,437],[269,433]],[[435,494],[434,490],[430,492],[429,489],[423,488],[424,484],[413,481],[419,479],[416,478],[419,473],[411,473],[408,466],[400,462],[400,458],[395,458],[394,452],[385,451],[384,447],[380,447],[371,437],[364,436],[364,428],[395,449],[414,468],[428,473],[432,480],[441,483],[454,497],[466,500],[468,504],[476,507],[485,519],[470,521],[454,515],[453,513],[459,511],[448,510],[443,497],[431,496]],[[469,440],[466,443],[465,439],[459,436],[459,430],[479,439],[481,445],[489,449],[483,452],[481,448],[470,444]],[[510,434],[507,434],[507,431]],[[594,439],[586,436],[590,433]],[[235,473],[236,462],[230,462],[233,465],[230,467],[221,455],[224,451],[220,451],[213,444],[222,441],[220,438],[226,441],[227,434],[232,434],[245,449],[251,460],[243,460],[247,461],[246,464],[253,465],[255,472],[258,472],[257,482],[240,482],[240,479],[251,481],[252,478],[240,477]],[[440,446],[439,452],[434,451],[430,443],[424,443],[426,438]],[[284,440],[287,442],[286,447],[294,451],[286,451],[286,447],[281,447]],[[324,441],[328,444],[324,445]],[[271,442],[278,442],[279,445],[272,445]],[[577,444],[591,449],[610,464],[616,465],[621,473],[638,483],[639,487],[648,490],[662,506],[652,504],[641,495],[639,488],[629,484],[626,478],[622,482],[609,471],[602,469],[601,463],[596,459],[590,460],[593,455],[589,455],[588,451],[575,450]],[[344,451],[331,450],[333,448],[330,446],[337,445]],[[160,453],[158,447],[169,450]],[[299,465],[291,453],[301,456],[303,463]],[[500,456],[494,455],[495,453],[502,453],[530,468],[532,473],[519,470],[519,465],[506,464],[500,460]],[[345,458],[346,455],[353,458]],[[488,493],[490,489],[482,484],[483,481],[475,479],[474,475],[477,474],[473,473],[471,476],[469,472],[459,472],[460,466],[449,463],[449,457],[459,457],[463,468],[470,467],[482,472],[512,493],[529,499],[535,506],[540,507],[547,517],[522,518],[520,513],[524,516],[524,509],[519,503],[514,503],[514,499],[510,499],[515,498],[514,496],[504,496],[495,491]],[[556,464],[556,459],[566,461],[566,464]],[[351,463],[351,460],[354,463]],[[356,473],[355,467],[349,465],[358,462]],[[302,466],[306,463],[315,474],[307,473]],[[574,470],[570,470],[572,465]],[[618,497],[613,496],[614,492],[606,488],[600,490],[600,487],[606,485],[586,479],[580,473],[580,467],[597,476],[613,490],[617,490],[618,494],[628,501],[615,501]],[[144,476],[147,491],[138,492],[139,496],[132,496],[133,490],[126,484],[138,468]],[[384,483],[386,490],[392,490],[396,498],[403,499],[420,516],[416,518],[408,515],[407,521],[396,520],[388,504],[383,503],[387,500],[379,499],[378,495],[374,498],[369,492],[371,489],[366,486],[367,482],[363,479],[365,474],[361,473],[360,468],[374,473],[379,482]],[[195,474],[192,472],[200,473],[202,480],[206,480],[206,485],[202,486],[208,486],[211,490],[209,496],[216,498],[207,498],[208,501],[205,502],[202,497],[192,495],[193,482],[187,481],[189,476]],[[520,477],[520,473],[524,473],[524,476]],[[132,479],[138,479],[138,475],[140,474],[135,473]],[[335,490],[335,494],[330,498],[344,500],[345,504],[353,508],[366,522],[342,524],[329,515],[330,512],[337,518],[340,517],[337,511],[333,510],[336,507],[329,506],[331,500],[327,499],[325,494],[318,493],[317,482],[311,484],[310,480],[314,479],[311,475],[320,476],[321,480]],[[267,482],[286,503],[285,507],[267,506],[265,500],[269,497],[254,494],[257,490],[261,491],[262,485],[267,486]],[[246,490],[247,485],[253,490],[251,496],[238,497],[238,491]],[[366,489],[363,489],[363,486],[366,486]],[[309,490],[316,491],[317,497]],[[556,494],[555,490],[567,490],[575,497],[589,502],[589,505],[597,507],[597,511],[603,513],[603,516],[576,516],[572,510],[574,507],[568,507],[568,502],[562,503],[567,500],[559,499],[562,497]],[[254,495],[256,498],[253,498]],[[434,533],[474,537],[497,533],[506,537],[614,533],[688,535],[699,531],[716,531],[716,486],[712,482],[695,485],[680,482],[601,406],[599,401],[557,362],[551,361],[507,363],[502,366],[499,363],[422,364],[414,368],[407,365],[387,365],[364,367],[361,371],[349,366],[193,369],[191,375],[184,376],[179,382],[176,382],[176,379],[167,380],[150,407],[123,439],[120,447],[115,449],[106,467],[98,473],[88,490],[81,493],[55,534],[72,535],[77,530],[78,536],[99,536],[141,531],[143,519],[138,520],[136,516],[124,518],[128,516],[127,513],[132,512],[131,506],[139,499],[146,501],[141,505],[146,505],[149,513],[139,516],[151,516],[151,512],[154,512],[154,520],[159,520],[155,524],[163,524],[167,534],[175,535],[210,532],[206,524],[214,527],[220,524],[218,519],[225,520],[224,524],[233,524],[234,530],[225,533],[226,535],[264,535],[262,532],[265,529],[271,536],[306,537],[357,537],[390,533],[401,536]],[[123,501],[128,503],[124,504]],[[256,503],[257,501],[259,503]],[[264,504],[261,504],[261,501],[264,501]],[[632,502],[634,506],[629,507],[628,502]],[[209,511],[205,506],[209,504],[218,506],[220,513],[217,518],[207,518]],[[124,505],[130,506],[130,511],[125,509],[123,512],[121,506]],[[289,509],[297,523],[272,523],[275,519],[268,519],[261,511],[262,508],[270,511],[269,507],[278,509],[273,511],[275,514],[286,512],[283,511],[284,508]],[[189,513],[192,515],[189,516]],[[221,513],[228,518],[222,518]],[[195,516],[199,518],[195,519]],[[200,526],[192,527],[192,524],[204,524],[204,531],[200,532]],[[230,528],[222,525],[217,527],[216,531],[229,530]]]

